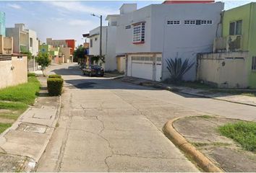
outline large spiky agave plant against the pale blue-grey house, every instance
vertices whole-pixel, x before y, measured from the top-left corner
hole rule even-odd
[[[166,59],[167,69],[171,74],[171,81],[178,82],[182,81],[184,74],[189,71],[190,68],[194,65],[194,63],[189,62],[189,58],[185,59],[182,62],[182,58],[172,58]]]

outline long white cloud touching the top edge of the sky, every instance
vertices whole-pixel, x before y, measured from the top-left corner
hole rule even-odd
[[[94,6],[87,6],[82,4],[79,1],[46,1],[47,4],[52,6],[56,6],[61,8],[62,12],[83,12],[88,14],[100,14],[100,15],[108,15],[108,14],[117,14],[118,11],[116,9],[109,9],[106,6],[102,7],[94,7]],[[59,9],[60,10],[60,9]]]

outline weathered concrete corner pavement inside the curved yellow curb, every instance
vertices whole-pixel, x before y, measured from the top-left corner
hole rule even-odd
[[[253,172],[256,169],[255,148],[250,148],[251,151],[249,151],[248,147],[244,147],[246,141],[239,143],[236,138],[226,137],[221,131],[225,130],[224,132],[226,132],[229,128],[233,128],[232,125],[237,125],[236,129],[239,129],[237,127],[242,127],[242,125],[244,125],[243,128],[247,128],[247,123],[249,123],[249,128],[255,127],[253,126],[255,123],[252,122],[202,115],[176,119],[169,125],[172,125],[172,130],[175,131],[174,134],[179,133],[178,139],[183,138],[189,143],[189,146],[191,146],[189,150],[183,151],[185,154],[192,153],[199,166],[200,162],[196,158],[198,156],[208,159],[215,167],[220,168],[219,171]],[[174,135],[171,134],[171,136]],[[173,141],[177,140],[176,136],[173,138]],[[184,145],[187,145],[187,143]],[[196,150],[196,152],[193,150]],[[201,154],[197,155],[198,152]],[[241,160],[243,161],[241,162]],[[205,170],[202,165],[201,168],[204,171],[210,171]]]

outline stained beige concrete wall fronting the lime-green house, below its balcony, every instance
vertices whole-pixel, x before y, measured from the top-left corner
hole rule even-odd
[[[225,88],[248,86],[247,52],[206,53],[197,59],[197,80]]]

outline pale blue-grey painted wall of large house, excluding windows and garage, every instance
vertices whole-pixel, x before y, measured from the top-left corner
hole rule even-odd
[[[196,62],[197,53],[213,49],[213,40],[220,35],[223,3],[210,4],[153,4],[135,12],[121,15],[118,20],[116,53],[162,52],[162,80],[169,76],[166,58],[189,58]],[[184,25],[184,20],[212,20],[212,25]],[[179,25],[167,25],[167,20],[179,20]],[[145,22],[145,43],[132,44],[132,28],[125,26]],[[196,79],[193,66],[184,76],[185,80]]]

